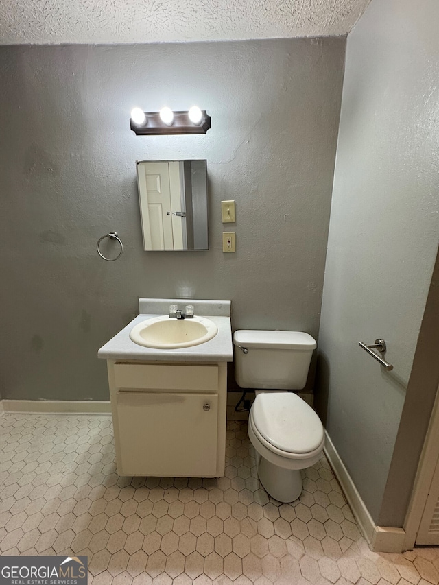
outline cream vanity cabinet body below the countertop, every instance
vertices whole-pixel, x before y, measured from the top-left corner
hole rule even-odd
[[[119,475],[224,475],[226,362],[107,364]]]

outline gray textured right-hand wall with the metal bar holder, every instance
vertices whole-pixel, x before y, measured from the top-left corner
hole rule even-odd
[[[412,407],[426,398],[408,381],[438,247],[438,21],[436,0],[375,0],[348,37],[324,279],[319,410],[372,517],[392,525],[417,464],[412,450],[401,473],[399,449],[382,510],[406,390]],[[377,337],[391,372],[358,347]],[[412,414],[401,440],[418,451],[429,412]]]

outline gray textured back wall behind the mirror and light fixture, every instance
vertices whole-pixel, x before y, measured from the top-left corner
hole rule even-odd
[[[344,38],[0,47],[3,398],[106,399],[97,349],[137,298],[226,298],[236,328],[318,334]],[[135,105],[206,109],[137,137]],[[208,252],[144,252],[135,160],[206,158]],[[219,202],[235,199],[237,253]],[[116,230],[119,261],[97,256]]]

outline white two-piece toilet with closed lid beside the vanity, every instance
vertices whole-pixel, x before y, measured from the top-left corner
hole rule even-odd
[[[323,425],[302,398],[316,341],[301,331],[235,331],[235,379],[257,389],[248,436],[256,449],[257,472],[274,499],[292,502],[302,492],[300,469],[320,459]],[[275,390],[274,390],[275,389]]]

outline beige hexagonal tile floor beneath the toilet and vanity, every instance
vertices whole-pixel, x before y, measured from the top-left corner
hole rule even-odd
[[[108,416],[0,417],[0,552],[86,555],[93,585],[439,584],[439,549],[372,553],[327,460],[292,504],[259,485],[245,422],[220,479],[118,477]]]

